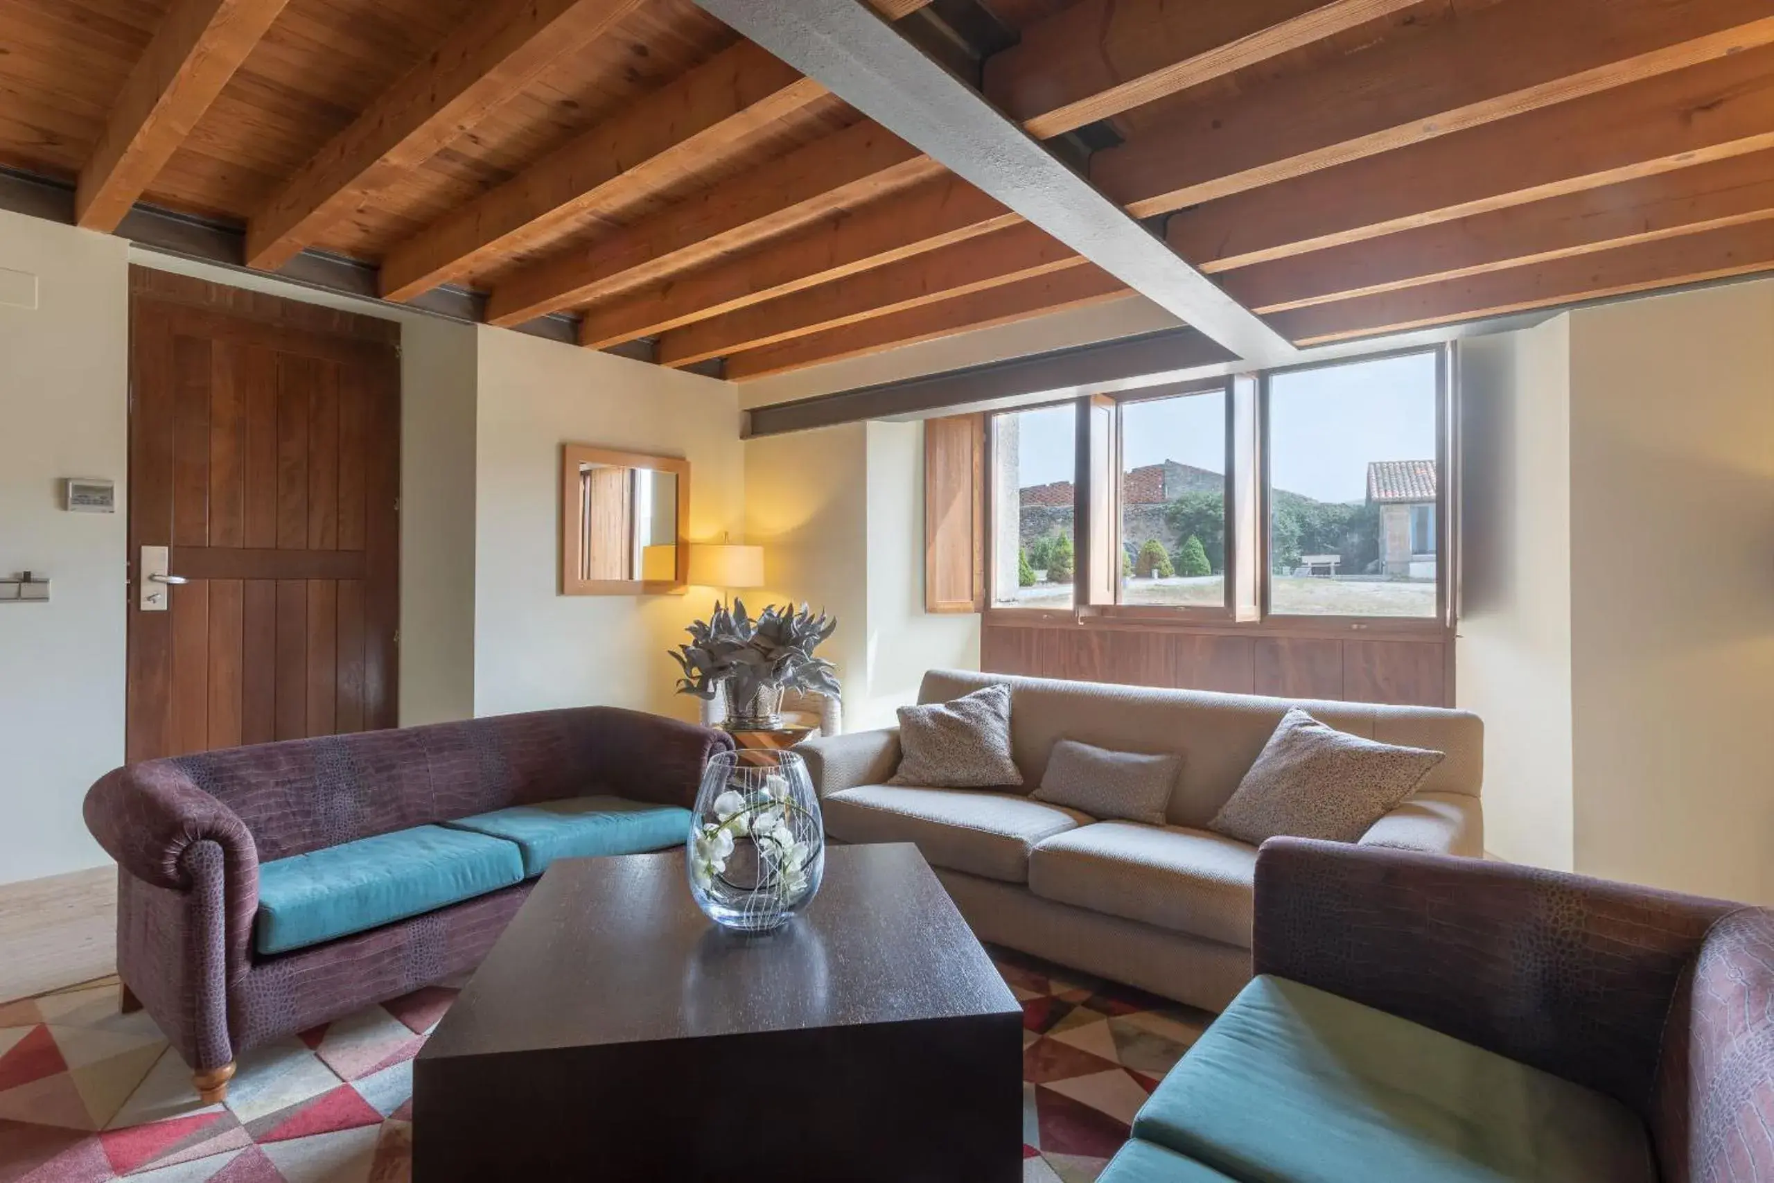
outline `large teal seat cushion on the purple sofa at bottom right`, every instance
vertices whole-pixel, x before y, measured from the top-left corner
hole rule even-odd
[[[1652,1183],[1620,1101],[1428,1027],[1258,977],[1134,1119],[1247,1183]]]

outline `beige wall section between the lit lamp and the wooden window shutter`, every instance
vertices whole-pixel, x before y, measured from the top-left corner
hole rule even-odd
[[[765,598],[839,617],[821,649],[844,727],[894,722],[931,667],[979,667],[979,617],[924,612],[924,427],[846,424],[745,443],[745,529]]]

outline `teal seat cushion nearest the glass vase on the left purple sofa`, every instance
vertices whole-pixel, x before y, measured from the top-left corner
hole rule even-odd
[[[555,858],[640,855],[681,846],[690,834],[690,811],[621,796],[569,796],[444,825],[516,842],[523,851],[523,876],[534,878]]]

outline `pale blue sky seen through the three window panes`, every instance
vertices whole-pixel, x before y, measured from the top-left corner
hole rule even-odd
[[[1322,502],[1368,495],[1368,461],[1435,459],[1435,355],[1276,374],[1270,380],[1270,474],[1276,488]],[[1018,484],[1070,481],[1071,404],[1024,411]],[[1128,468],[1174,459],[1226,466],[1222,394],[1130,403],[1121,408]]]

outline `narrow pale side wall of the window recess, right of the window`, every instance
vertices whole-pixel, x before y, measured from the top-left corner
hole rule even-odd
[[[1574,866],[1570,317],[1460,344],[1458,706],[1485,720],[1485,848]]]

